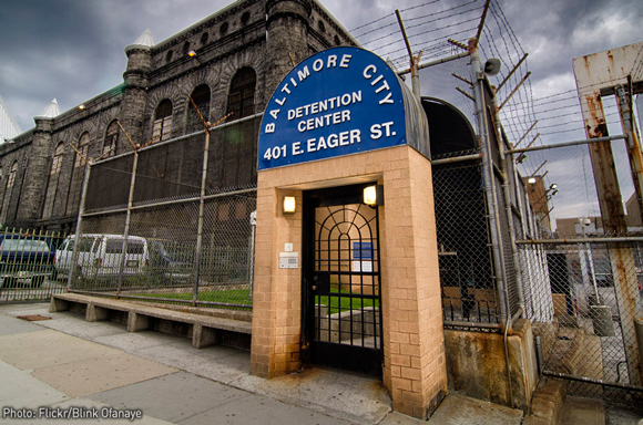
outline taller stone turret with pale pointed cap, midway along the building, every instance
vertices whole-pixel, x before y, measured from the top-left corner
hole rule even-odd
[[[152,34],[145,30],[133,44],[125,48],[127,69],[123,73],[125,89],[119,121],[134,143],[142,142],[153,45]]]

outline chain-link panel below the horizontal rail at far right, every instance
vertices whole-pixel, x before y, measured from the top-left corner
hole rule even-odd
[[[635,318],[643,317],[643,240],[592,238],[519,249],[543,372],[575,381],[575,393],[584,396],[640,387],[643,341]],[[537,266],[544,272],[530,274]]]

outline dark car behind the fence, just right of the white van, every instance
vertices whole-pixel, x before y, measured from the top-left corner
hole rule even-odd
[[[163,283],[185,283],[192,280],[194,247],[169,240],[147,241],[150,249],[149,270],[153,278]]]

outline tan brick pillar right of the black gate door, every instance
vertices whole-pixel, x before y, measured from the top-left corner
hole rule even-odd
[[[431,165],[407,148],[385,173],[384,383],[392,407],[426,418],[447,393]]]

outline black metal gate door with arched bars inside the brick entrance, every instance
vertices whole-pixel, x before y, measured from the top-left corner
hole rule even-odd
[[[378,211],[361,189],[306,196],[305,348],[310,363],[381,373]]]

